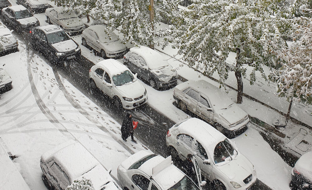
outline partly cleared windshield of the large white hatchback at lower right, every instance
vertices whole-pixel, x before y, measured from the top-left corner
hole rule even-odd
[[[231,143],[226,139],[217,144],[213,153],[213,158],[214,158],[215,164],[218,164],[221,162],[231,161],[236,155],[237,155],[237,151],[233,148]]]

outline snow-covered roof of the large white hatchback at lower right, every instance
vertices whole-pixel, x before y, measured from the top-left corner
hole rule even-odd
[[[196,139],[210,155],[213,155],[216,145],[227,138],[220,131],[197,118],[190,118],[174,127],[178,127],[180,133],[188,134]]]

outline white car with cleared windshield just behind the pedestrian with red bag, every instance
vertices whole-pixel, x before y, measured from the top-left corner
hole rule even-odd
[[[115,59],[98,62],[89,71],[90,93],[99,88],[117,108],[133,109],[147,102],[147,91],[126,66]]]

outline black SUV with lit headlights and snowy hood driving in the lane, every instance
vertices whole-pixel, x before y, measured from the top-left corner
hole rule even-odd
[[[31,31],[32,47],[41,51],[51,62],[63,62],[80,59],[81,50],[79,45],[59,26],[37,26]]]

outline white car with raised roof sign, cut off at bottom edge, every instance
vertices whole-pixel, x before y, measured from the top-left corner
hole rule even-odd
[[[201,181],[200,169],[196,172]],[[141,150],[124,160],[117,169],[117,177],[124,190],[200,190],[181,170],[173,165],[171,156]]]

